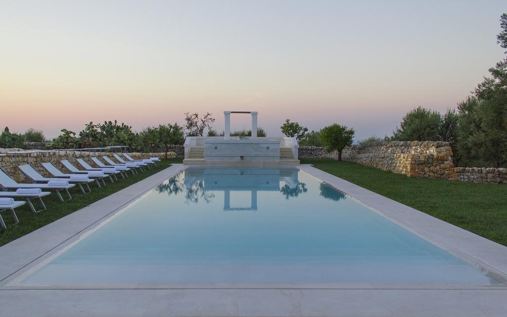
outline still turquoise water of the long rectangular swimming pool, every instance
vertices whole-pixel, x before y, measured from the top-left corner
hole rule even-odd
[[[187,168],[22,285],[496,281],[292,168]]]

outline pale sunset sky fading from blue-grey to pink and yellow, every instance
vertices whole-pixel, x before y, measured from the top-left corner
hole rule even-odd
[[[141,130],[184,112],[259,111],[280,135],[390,134],[454,108],[499,61],[502,1],[2,1],[0,126]],[[231,129],[249,128],[248,116]]]

